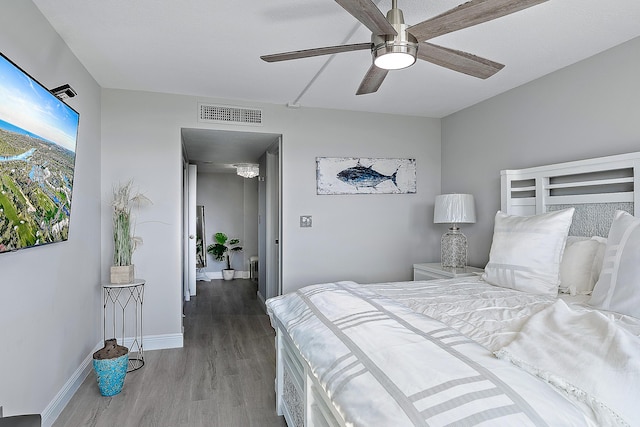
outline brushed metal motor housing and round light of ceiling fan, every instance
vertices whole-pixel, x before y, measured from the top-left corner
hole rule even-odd
[[[418,54],[418,40],[407,32],[408,26],[404,23],[402,10],[389,10],[387,20],[398,34],[371,35],[373,63],[387,70],[398,70],[413,65]]]

